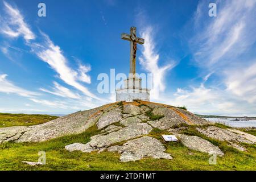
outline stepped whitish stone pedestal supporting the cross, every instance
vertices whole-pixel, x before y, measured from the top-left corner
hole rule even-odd
[[[131,77],[124,80],[123,88],[115,90],[116,101],[150,101],[150,90],[142,88],[141,78]]]

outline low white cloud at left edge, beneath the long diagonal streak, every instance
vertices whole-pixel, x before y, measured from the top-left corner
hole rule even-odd
[[[38,93],[28,91],[14,85],[11,81],[6,79],[7,75],[0,75],[0,92],[18,94],[23,97],[34,97],[38,96]]]

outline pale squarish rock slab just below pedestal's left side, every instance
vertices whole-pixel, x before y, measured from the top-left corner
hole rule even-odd
[[[98,129],[103,129],[105,126],[118,122],[121,119],[122,119],[122,113],[121,113],[121,109],[118,107],[102,114],[100,119],[98,119],[97,127]]]

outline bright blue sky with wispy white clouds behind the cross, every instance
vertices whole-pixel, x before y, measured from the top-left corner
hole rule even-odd
[[[46,4],[46,17],[38,4]],[[217,17],[208,15],[217,4]],[[154,73],[151,101],[256,115],[256,1],[1,1],[0,112],[68,114],[114,102],[100,73]]]

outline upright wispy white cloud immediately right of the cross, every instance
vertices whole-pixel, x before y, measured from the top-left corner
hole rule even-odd
[[[147,27],[145,31],[142,32],[141,37],[145,39],[145,43],[143,44],[142,56],[139,57],[139,63],[146,71],[152,73],[153,85],[150,96],[152,99],[157,99],[159,91],[163,92],[166,88],[164,76],[168,69],[175,67],[175,62],[169,61],[169,64],[164,67],[159,67],[159,54],[155,51],[155,43],[152,38],[152,27]]]

